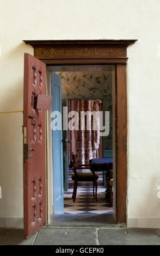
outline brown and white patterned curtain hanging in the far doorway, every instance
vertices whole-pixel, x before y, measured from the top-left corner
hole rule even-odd
[[[81,111],[89,111],[90,130],[87,130],[87,117],[81,119]],[[91,112],[95,111],[96,120]],[[76,131],[76,160],[77,164],[89,164],[89,160],[97,158],[100,144],[99,100],[78,100],[79,130]],[[81,126],[85,130],[81,130]],[[97,130],[94,130],[96,127]]]

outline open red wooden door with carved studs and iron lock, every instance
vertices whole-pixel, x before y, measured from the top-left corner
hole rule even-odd
[[[24,53],[23,199],[24,237],[46,222],[45,211],[45,110],[39,99],[46,93],[46,65]],[[46,96],[47,97],[47,96]],[[39,104],[40,103],[40,104]],[[42,103],[42,104],[41,104]],[[44,107],[46,109],[46,107]]]

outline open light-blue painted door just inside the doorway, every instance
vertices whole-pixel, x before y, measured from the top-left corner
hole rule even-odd
[[[63,214],[63,142],[61,118],[61,77],[52,72],[52,123],[53,123],[53,198],[54,214]],[[56,129],[57,126],[57,129]]]

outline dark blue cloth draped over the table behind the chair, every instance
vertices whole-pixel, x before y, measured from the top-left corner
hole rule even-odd
[[[113,169],[112,158],[99,158],[89,160],[91,172]]]

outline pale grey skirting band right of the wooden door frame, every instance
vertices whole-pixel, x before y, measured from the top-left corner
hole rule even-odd
[[[127,228],[160,228],[160,218],[128,218]]]

